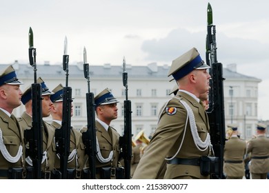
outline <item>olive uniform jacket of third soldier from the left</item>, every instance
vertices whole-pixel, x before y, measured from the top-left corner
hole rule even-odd
[[[57,123],[56,121],[52,121],[50,123],[52,128],[59,129],[61,128],[61,125]],[[77,153],[74,154],[72,158],[68,161],[68,168],[74,168],[76,170],[82,170],[83,169],[83,162],[84,162],[84,145],[82,142],[82,135],[81,132],[79,132],[77,129],[72,128],[70,132],[70,152],[73,150],[76,150]],[[55,157],[55,163],[54,167],[59,169],[60,168],[60,159],[59,156],[57,155]]]

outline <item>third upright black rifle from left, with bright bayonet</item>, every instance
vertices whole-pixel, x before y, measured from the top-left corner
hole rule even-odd
[[[95,128],[95,112],[94,112],[94,94],[90,92],[90,73],[89,64],[87,63],[86,48],[83,50],[83,70],[84,77],[88,82],[88,93],[86,93],[87,102],[87,131],[82,133],[82,140],[85,145],[85,152],[88,155],[88,161],[90,165],[90,179],[95,179],[95,156],[97,154],[96,147],[96,128]]]

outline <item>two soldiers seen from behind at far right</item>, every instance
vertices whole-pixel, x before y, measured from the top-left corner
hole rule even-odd
[[[223,171],[227,179],[267,179],[269,172],[269,139],[266,125],[257,124],[257,135],[250,141],[240,139],[236,124],[226,131]],[[251,174],[251,176],[250,176]]]

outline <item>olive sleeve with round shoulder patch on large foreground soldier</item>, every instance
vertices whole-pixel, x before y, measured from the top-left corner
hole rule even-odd
[[[176,112],[175,112],[176,111]],[[187,112],[179,102],[170,101],[163,110],[157,130],[143,154],[133,179],[156,179],[168,152],[177,143],[186,124]]]

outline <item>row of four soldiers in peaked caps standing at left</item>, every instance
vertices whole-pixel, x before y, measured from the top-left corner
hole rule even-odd
[[[63,121],[63,85],[59,84],[50,90],[39,77],[41,84],[42,117],[52,116],[51,123],[42,121],[43,125],[43,158],[41,161],[41,179],[61,179],[60,155],[55,142],[55,130],[61,128]],[[25,134],[32,128],[32,94],[31,85],[21,92],[23,84],[17,78],[12,65],[0,74],[0,179],[32,179],[33,163],[29,156],[29,143]],[[19,105],[25,106],[25,112],[15,117],[12,110]],[[116,174],[119,168],[119,134],[110,127],[110,121],[117,119],[117,99],[108,88],[94,98],[96,111],[97,159],[96,178],[123,178]],[[72,108],[71,108],[72,116]],[[82,132],[88,128],[72,128],[70,132],[70,154],[68,156],[67,179],[88,179],[89,161],[85,154]],[[120,171],[122,171],[120,170]]]

